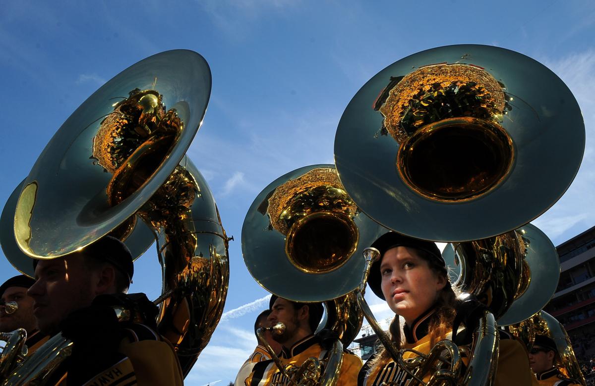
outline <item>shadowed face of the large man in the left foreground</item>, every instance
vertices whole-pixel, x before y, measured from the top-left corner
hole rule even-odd
[[[95,275],[75,253],[53,260],[40,260],[35,268],[32,296],[33,314],[44,334],[59,331],[60,322],[71,312],[89,306],[95,298]]]

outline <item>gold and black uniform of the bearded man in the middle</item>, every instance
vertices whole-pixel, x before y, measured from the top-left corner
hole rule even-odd
[[[303,338],[293,345],[291,349],[283,347],[279,359],[283,365],[292,364],[300,366],[309,357],[324,359],[327,350],[320,345],[320,338],[311,335]],[[357,384],[358,372],[362,368],[362,360],[358,356],[350,353],[343,355],[343,364],[339,372],[337,386],[355,386]],[[265,385],[289,385],[289,379],[275,366],[272,359],[263,360],[255,363],[252,372],[246,378],[246,386],[265,386]]]

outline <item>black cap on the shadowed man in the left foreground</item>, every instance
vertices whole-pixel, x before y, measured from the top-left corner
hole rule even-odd
[[[82,254],[109,262],[115,268],[124,273],[128,280],[132,281],[134,274],[133,257],[130,249],[113,236],[104,236],[101,239],[87,245],[80,251]],[[33,269],[37,266],[39,260],[33,260]]]

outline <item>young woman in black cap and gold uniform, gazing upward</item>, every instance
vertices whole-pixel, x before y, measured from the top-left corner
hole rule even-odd
[[[369,288],[386,300],[395,316],[390,336],[399,349],[427,354],[434,344],[450,339],[456,309],[461,304],[450,286],[446,264],[436,244],[389,232],[372,244],[380,251],[368,277]],[[401,329],[399,317],[405,320]],[[472,332],[472,331],[471,331]],[[471,334],[459,333],[457,344],[469,344]],[[411,352],[403,356],[412,359]],[[464,358],[468,363],[468,359]],[[527,352],[507,334],[500,336],[498,386],[531,385]],[[430,375],[424,376],[427,381]],[[372,356],[358,376],[359,386],[407,385],[412,376],[390,357],[387,350]]]

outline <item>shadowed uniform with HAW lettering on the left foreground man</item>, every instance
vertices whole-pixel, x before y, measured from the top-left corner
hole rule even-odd
[[[141,294],[124,296],[138,295]],[[145,300],[149,302],[146,298],[140,302]],[[183,385],[184,377],[174,347],[156,333],[155,325],[118,322],[117,319],[114,324],[114,319],[111,318],[115,317],[113,308],[97,308],[95,302],[90,308],[82,311],[84,314],[77,315],[79,318],[67,323],[67,327],[62,330],[62,335],[73,340],[73,354],[58,367],[50,384]],[[107,314],[111,316],[104,320]],[[89,321],[91,316],[95,317],[98,323],[93,327],[104,329],[105,333],[99,334],[99,337],[88,334],[88,324],[79,323],[81,319]],[[77,329],[77,324],[84,327]],[[101,341],[107,341],[105,347],[98,347]],[[115,344],[115,347],[112,347],[112,344]]]

